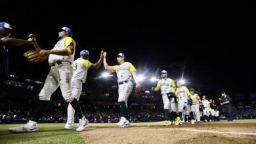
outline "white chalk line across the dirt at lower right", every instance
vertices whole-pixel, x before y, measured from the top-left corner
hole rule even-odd
[[[214,131],[214,130],[195,130],[190,128],[171,128],[170,130],[184,130],[188,132],[207,132],[207,133],[214,133],[214,134],[235,134],[235,135],[256,135],[253,132],[221,132],[221,131]]]

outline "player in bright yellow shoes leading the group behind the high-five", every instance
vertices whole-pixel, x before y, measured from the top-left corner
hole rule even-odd
[[[154,91],[161,90],[161,96],[163,98],[163,109],[165,114],[165,123],[163,124],[164,126],[169,126],[172,123],[173,113],[176,113],[177,111],[175,98],[168,98],[169,94],[173,94],[173,96],[175,95],[175,88],[175,82],[167,77],[167,71],[165,70],[161,71],[161,80],[158,81],[156,88],[152,88]]]

